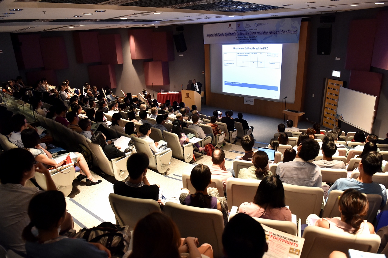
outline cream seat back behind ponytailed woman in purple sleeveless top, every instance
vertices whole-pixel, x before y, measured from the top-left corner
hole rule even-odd
[[[198,238],[200,245],[204,243],[211,245],[215,258],[223,256],[222,232],[224,224],[221,211],[172,202],[165,204],[164,211],[177,224],[181,237],[194,235]]]

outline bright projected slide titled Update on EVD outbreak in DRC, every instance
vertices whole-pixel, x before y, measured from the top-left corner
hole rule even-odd
[[[282,44],[222,45],[222,92],[279,99]]]

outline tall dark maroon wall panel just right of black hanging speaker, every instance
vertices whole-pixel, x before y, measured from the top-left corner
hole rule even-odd
[[[345,69],[371,69],[377,19],[353,20],[350,23]],[[362,35],[360,32],[362,31]]]

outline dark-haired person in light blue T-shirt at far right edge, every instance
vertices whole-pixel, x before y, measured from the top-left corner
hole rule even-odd
[[[381,172],[382,161],[383,157],[380,153],[368,153],[361,159],[359,163],[359,177],[337,179],[336,182],[334,182],[334,184],[330,187],[327,194],[329,194],[331,190],[335,189],[341,191],[346,189],[355,189],[362,192],[363,194],[379,194],[383,198],[381,207],[384,207],[387,201],[387,192],[385,190],[385,186],[374,183],[372,181],[372,176],[377,172]]]

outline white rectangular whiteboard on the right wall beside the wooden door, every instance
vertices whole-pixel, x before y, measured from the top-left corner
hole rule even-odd
[[[341,87],[338,97],[338,121],[372,133],[376,96]]]

